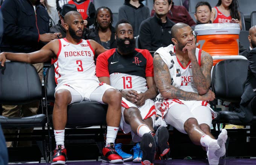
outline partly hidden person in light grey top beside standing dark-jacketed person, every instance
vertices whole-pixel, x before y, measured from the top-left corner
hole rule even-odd
[[[49,26],[52,27],[58,23],[59,20],[59,15],[58,11],[56,9],[56,2],[54,0],[54,3],[52,2],[53,0],[40,0],[40,2],[44,5],[44,8],[47,10],[49,17],[50,17],[50,24]],[[50,2],[50,3],[49,3]],[[52,6],[50,6],[50,4]]]

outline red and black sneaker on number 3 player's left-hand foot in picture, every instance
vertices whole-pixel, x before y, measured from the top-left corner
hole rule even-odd
[[[67,150],[66,148],[62,149],[61,145],[58,145],[58,148],[56,148],[53,151],[51,165],[61,165],[61,164],[65,164],[66,162],[67,162]]]

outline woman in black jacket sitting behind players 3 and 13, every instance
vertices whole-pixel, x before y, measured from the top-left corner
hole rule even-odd
[[[95,31],[87,35],[88,39],[93,39],[106,49],[117,48],[115,39],[115,28],[113,24],[113,13],[105,6],[96,10],[94,29]]]

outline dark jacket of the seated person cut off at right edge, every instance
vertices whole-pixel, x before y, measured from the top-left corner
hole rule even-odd
[[[248,73],[247,79],[245,82],[244,93],[241,96],[240,102],[240,119],[243,122],[249,122],[253,118],[252,104],[250,104],[251,100],[256,96],[256,92],[253,92],[253,89],[256,88],[256,48],[252,49],[248,53]]]

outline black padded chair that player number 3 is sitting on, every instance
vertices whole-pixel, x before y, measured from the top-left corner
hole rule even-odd
[[[54,66],[51,65],[47,70],[46,82],[45,82],[47,101],[54,102],[55,87],[56,87],[55,71],[54,71]],[[76,103],[70,104],[67,107],[66,128],[75,129],[75,128],[85,128],[90,126],[100,126],[99,131],[93,130],[92,132],[90,132],[92,136],[88,136],[87,138],[95,140],[99,148],[99,152],[100,152],[99,154],[101,154],[103,142],[104,142],[103,133],[105,132],[104,126],[106,124],[106,112],[107,112],[107,105],[103,105],[98,102],[84,101],[84,102],[76,102]],[[53,127],[52,115],[49,115],[49,122],[50,122],[49,124]],[[79,132],[81,133],[81,131],[78,130],[78,133]],[[67,132],[65,133],[67,135]],[[84,135],[86,134],[86,132],[82,132],[81,134]],[[50,139],[50,141],[52,140]]]

